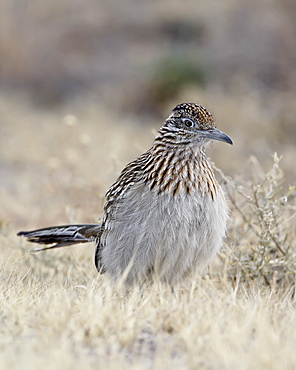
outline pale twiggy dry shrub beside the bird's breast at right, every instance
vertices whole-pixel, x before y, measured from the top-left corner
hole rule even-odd
[[[287,289],[296,281],[295,186],[283,186],[280,159],[264,173],[251,158],[253,179],[238,182],[222,175],[234,222],[225,251],[228,277],[246,284],[254,280],[272,289]]]

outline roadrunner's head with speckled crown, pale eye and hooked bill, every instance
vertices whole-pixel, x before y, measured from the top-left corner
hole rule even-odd
[[[224,132],[215,127],[212,114],[195,103],[178,104],[167,118],[163,128],[175,143],[204,147],[212,140],[232,144]]]

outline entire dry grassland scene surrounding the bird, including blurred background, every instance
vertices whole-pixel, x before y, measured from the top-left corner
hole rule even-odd
[[[0,368],[296,368],[295,1],[0,9]],[[16,232],[99,219],[181,101],[234,142],[210,151],[231,220],[209,271],[126,291],[92,245],[31,254]]]

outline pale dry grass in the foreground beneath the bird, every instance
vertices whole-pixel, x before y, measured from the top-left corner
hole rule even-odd
[[[295,366],[291,291],[196,278],[124,292],[69,253],[2,268],[2,369]]]

